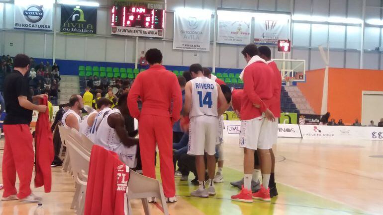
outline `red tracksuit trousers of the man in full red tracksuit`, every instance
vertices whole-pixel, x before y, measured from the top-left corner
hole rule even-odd
[[[169,117],[143,115],[138,122],[142,171],[156,178],[154,157],[156,143],[160,154],[160,171],[165,197],[176,195],[173,166],[173,128]]]

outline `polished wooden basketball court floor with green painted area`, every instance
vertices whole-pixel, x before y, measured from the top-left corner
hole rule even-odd
[[[243,154],[237,142],[236,139],[226,141],[225,182],[216,185],[217,195],[208,199],[190,197],[196,187],[178,178],[179,201],[169,205],[171,215],[383,214],[383,142],[279,139],[275,153],[280,195],[271,203],[256,201],[253,204],[230,201],[230,196],[238,191],[229,182],[242,177]],[[1,159],[2,146],[3,140],[0,141]],[[51,193],[33,189],[43,197],[45,214],[75,215],[70,210],[74,195],[72,177],[59,167],[53,168],[52,175]],[[192,178],[190,175],[190,180]],[[35,207],[36,204],[18,201],[0,202],[0,215],[32,215]],[[135,215],[144,214],[140,202],[134,201],[132,207]],[[162,214],[158,205],[151,204],[151,208],[152,215]]]

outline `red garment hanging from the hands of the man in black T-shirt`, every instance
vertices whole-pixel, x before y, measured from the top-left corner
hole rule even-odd
[[[41,104],[48,105],[48,98],[41,99]],[[35,187],[44,186],[45,193],[51,192],[52,174],[51,164],[55,156],[53,149],[52,131],[49,125],[49,111],[39,113],[36,122],[36,175]]]

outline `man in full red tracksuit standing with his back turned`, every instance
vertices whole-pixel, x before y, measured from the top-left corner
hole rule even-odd
[[[156,178],[154,158],[157,143],[164,194],[168,203],[173,203],[177,200],[172,127],[180,119],[181,88],[177,76],[161,66],[160,50],[149,49],[145,58],[150,69],[137,75],[128,95],[128,108],[131,116],[138,120],[142,171],[145,176]],[[139,98],[142,101],[141,112],[137,105]]]

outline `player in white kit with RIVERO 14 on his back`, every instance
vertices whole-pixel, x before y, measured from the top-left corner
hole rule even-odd
[[[218,116],[228,108],[225,96],[218,83],[203,76],[202,66],[190,66],[191,76],[194,77],[185,87],[184,113],[190,117],[189,150],[188,154],[195,156],[199,187],[191,192],[192,196],[208,197],[215,195],[215,146],[219,144]],[[218,103],[221,104],[218,108]],[[206,152],[208,184],[205,186],[205,161]]]

